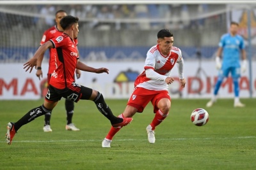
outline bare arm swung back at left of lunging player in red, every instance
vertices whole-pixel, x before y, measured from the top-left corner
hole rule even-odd
[[[37,60],[43,60],[44,58],[44,53],[48,48],[52,48],[53,45],[51,43],[51,41],[47,41],[46,43],[42,44],[38,50],[36,50],[35,55],[28,60],[28,62],[26,62],[25,64],[23,64],[23,69],[26,69],[26,71],[28,71],[28,69],[30,69],[29,73],[31,73],[31,71],[33,70],[34,66],[37,66]]]

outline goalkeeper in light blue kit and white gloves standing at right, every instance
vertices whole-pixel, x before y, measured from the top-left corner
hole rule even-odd
[[[221,87],[223,79],[228,77],[231,73],[232,80],[234,83],[234,107],[244,107],[245,105],[239,100],[239,78],[241,71],[246,71],[246,52],[244,50],[244,40],[241,36],[237,34],[238,29],[237,22],[230,23],[230,32],[221,36],[219,48],[216,57],[216,67],[220,70],[218,75],[217,83],[214,87],[214,95],[211,101],[209,101],[206,106],[211,107],[212,104],[216,103],[218,91]],[[242,62],[240,66],[240,52],[242,55]],[[220,55],[223,54],[222,66],[220,62]]]

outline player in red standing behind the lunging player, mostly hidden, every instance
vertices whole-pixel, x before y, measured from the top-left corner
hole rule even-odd
[[[65,17],[65,16],[67,16],[67,13],[64,10],[59,10],[56,12],[56,14],[55,14],[56,25],[47,29],[47,31],[44,32],[44,35],[43,35],[40,45],[44,44],[45,42],[49,41],[50,39],[54,39],[54,38],[57,38],[58,36],[61,36],[61,34],[63,33],[63,29],[60,25],[60,20],[61,20],[61,18]],[[74,39],[74,41],[77,45],[78,44],[77,39]],[[50,54],[49,69],[48,69],[48,73],[47,73],[48,86],[49,86],[49,82],[51,79],[51,74],[56,69],[56,66],[55,66],[56,48],[50,48],[49,50],[50,50],[49,51],[49,54]],[[36,76],[38,76],[39,80],[40,80],[40,76],[42,77],[42,75],[43,75],[41,64],[42,64],[42,62],[38,62],[37,71],[36,71]],[[81,71],[79,69],[76,69],[77,79],[80,78],[80,76],[81,76]],[[66,99],[65,100],[65,109],[67,112],[66,129],[69,131],[79,131],[79,129],[72,123],[72,117],[74,114],[74,102]],[[51,120],[51,113],[45,114],[44,128],[43,128],[44,132],[52,132],[50,120]]]

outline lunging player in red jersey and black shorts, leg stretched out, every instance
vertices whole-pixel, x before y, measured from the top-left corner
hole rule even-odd
[[[63,34],[42,44],[35,55],[24,64],[24,69],[26,71],[30,69],[29,73],[31,73],[33,67],[37,67],[37,62],[44,57],[45,51],[48,48],[56,48],[56,58],[58,58],[55,63],[56,70],[51,74],[44,104],[28,111],[17,122],[9,122],[7,124],[6,142],[8,145],[11,145],[13,137],[22,125],[28,124],[46,113],[51,113],[61,97],[76,103],[80,99],[93,101],[100,113],[108,118],[113,127],[124,126],[132,121],[132,118],[115,117],[100,92],[74,83],[75,69],[92,73],[109,73],[107,68],[96,69],[79,61],[76,43],[74,42],[79,32],[78,20],[79,18],[70,15],[62,18],[60,24],[64,30]]]

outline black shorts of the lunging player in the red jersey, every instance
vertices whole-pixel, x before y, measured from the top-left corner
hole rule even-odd
[[[49,85],[48,92],[45,96],[45,100],[49,102],[60,101],[61,97],[68,99],[69,101],[74,101],[77,103],[80,99],[88,100],[92,96],[92,89],[79,85],[77,83],[72,83],[70,87],[66,89],[57,89],[52,85]]]

